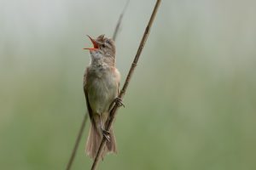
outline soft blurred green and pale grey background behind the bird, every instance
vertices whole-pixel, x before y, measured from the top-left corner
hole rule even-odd
[[[0,169],[64,169],[84,116],[86,34],[111,37],[125,0],[0,1]],[[124,77],[154,1],[117,38]],[[163,1],[99,169],[256,169],[256,2]],[[84,131],[73,169],[89,169]]]

